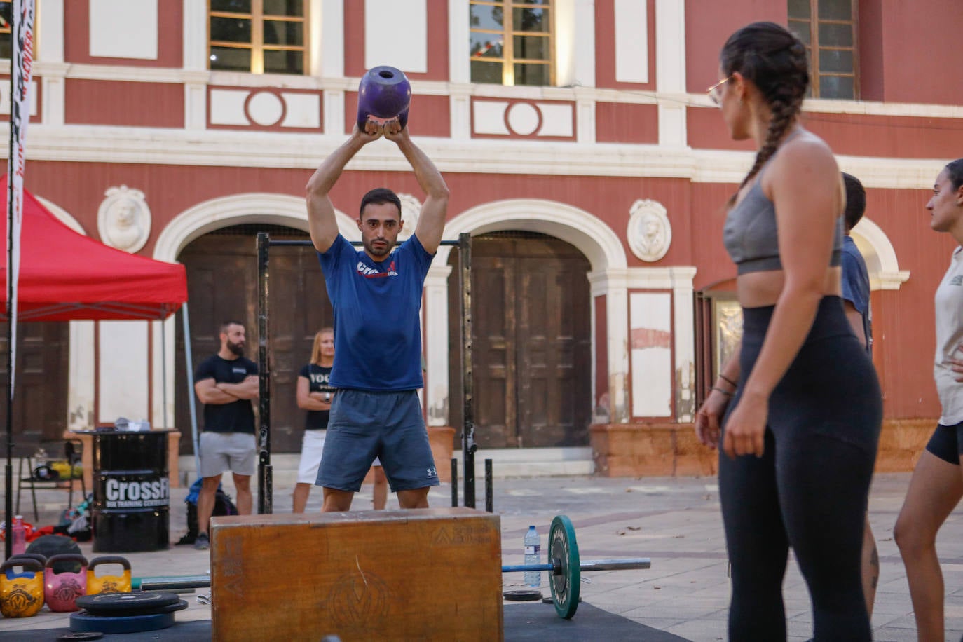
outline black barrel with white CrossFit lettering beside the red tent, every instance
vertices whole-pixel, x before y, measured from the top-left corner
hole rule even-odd
[[[168,432],[93,435],[93,552],[169,547]]]

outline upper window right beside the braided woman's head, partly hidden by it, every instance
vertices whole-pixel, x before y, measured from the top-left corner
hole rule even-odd
[[[789,0],[789,28],[806,44],[814,98],[859,97],[856,3]]]

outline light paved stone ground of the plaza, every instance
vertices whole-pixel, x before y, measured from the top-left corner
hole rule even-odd
[[[870,501],[870,518],[880,555],[881,578],[872,617],[876,640],[916,640],[912,605],[905,572],[893,541],[893,525],[909,475],[877,475]],[[233,494],[229,482],[225,490]],[[484,506],[479,484],[477,503]],[[557,514],[568,515],[576,527],[583,558],[650,557],[652,568],[585,574],[582,597],[586,603],[630,618],[654,629],[696,641],[725,639],[729,583],[726,578],[725,543],[719,515],[715,477],[597,478],[538,477],[495,480],[495,512],[501,516],[503,563],[522,563],[522,538],[534,524],[547,539]],[[172,489],[170,538],[186,531],[183,498],[186,489]],[[63,508],[64,491],[43,491],[40,524],[49,524]],[[24,498],[26,500],[26,498]],[[354,509],[370,507],[371,487],[355,498]],[[451,504],[451,487],[435,489],[435,506]],[[318,510],[321,493],[312,493],[308,510]],[[256,499],[255,499],[256,506]],[[397,507],[391,496],[388,507]],[[274,511],[291,509],[290,489],[276,488]],[[31,517],[29,509],[28,519]],[[46,521],[45,521],[46,520]],[[81,547],[91,555],[91,545]],[[940,533],[938,550],[947,590],[947,640],[963,633],[963,514],[955,511]],[[100,554],[100,553],[96,553]],[[207,552],[190,547],[169,551],[127,553],[136,577],[195,575],[209,568]],[[522,574],[505,574],[506,589],[518,588]],[[547,578],[542,578],[548,595]],[[203,592],[203,591],[201,591]],[[812,617],[805,584],[790,560],[784,595],[789,639],[806,640],[812,634]],[[178,621],[208,619],[208,606],[185,596],[191,606],[177,613]],[[575,616],[578,617],[578,614]],[[68,615],[49,613],[24,620],[0,620],[0,630],[68,626]]]

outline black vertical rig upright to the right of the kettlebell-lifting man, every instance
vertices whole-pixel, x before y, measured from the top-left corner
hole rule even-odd
[[[458,258],[461,270],[461,389],[464,391],[464,424],[461,427],[461,454],[465,461],[465,506],[475,507],[475,396],[472,386],[472,236],[458,235]],[[454,480],[453,480],[454,481]]]

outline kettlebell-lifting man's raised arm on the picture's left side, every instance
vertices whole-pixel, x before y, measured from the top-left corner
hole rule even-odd
[[[327,248],[338,238],[338,221],[334,218],[334,205],[331,204],[327,193],[334,187],[334,183],[354,154],[365,144],[376,141],[381,136],[381,128],[377,127],[377,123],[369,122],[365,129],[371,133],[361,132],[355,126],[348,141],[325,158],[325,162],[318,167],[305,187],[311,241],[319,252],[327,251]]]

